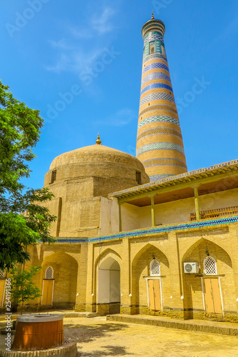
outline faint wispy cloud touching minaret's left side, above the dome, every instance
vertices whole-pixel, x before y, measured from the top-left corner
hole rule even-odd
[[[123,108],[106,119],[95,121],[95,125],[101,126],[125,126],[137,118],[135,111],[129,108]]]

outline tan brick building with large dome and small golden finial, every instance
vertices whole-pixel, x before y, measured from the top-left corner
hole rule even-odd
[[[95,145],[57,156],[44,182],[55,196],[49,203],[51,213],[58,217],[52,235],[98,236],[103,233],[101,211],[112,203],[108,193],[148,182],[150,178],[138,159],[101,145],[99,136]],[[119,226],[111,226],[110,233],[118,230]]]

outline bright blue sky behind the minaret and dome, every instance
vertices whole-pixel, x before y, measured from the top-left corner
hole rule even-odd
[[[237,0],[1,1],[0,78],[46,120],[27,186],[43,186],[51,161],[95,144],[98,131],[135,155],[140,31],[152,9],[166,26],[188,170],[238,159]]]

